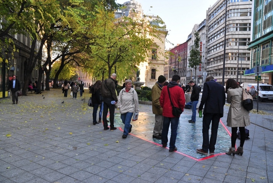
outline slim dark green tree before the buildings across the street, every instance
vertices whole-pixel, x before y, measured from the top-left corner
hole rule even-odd
[[[190,58],[189,58],[189,67],[194,68],[195,70],[195,83],[197,82],[197,77],[196,77],[196,69],[202,63],[201,55],[200,55],[200,36],[199,32],[194,32],[194,44],[192,46],[192,49],[190,50]]]

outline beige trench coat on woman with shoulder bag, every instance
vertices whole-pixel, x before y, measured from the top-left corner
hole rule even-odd
[[[227,126],[243,127],[250,124],[249,111],[242,104],[243,88],[227,90],[227,103],[230,104],[229,113],[227,114]]]

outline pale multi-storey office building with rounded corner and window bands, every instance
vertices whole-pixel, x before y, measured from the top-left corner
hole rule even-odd
[[[205,71],[221,84],[225,84],[229,78],[239,83],[253,82],[255,79],[242,73],[249,69],[250,63],[247,44],[251,34],[251,7],[250,0],[218,0],[207,10]]]

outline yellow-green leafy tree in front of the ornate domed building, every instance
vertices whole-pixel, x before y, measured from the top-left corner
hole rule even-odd
[[[154,39],[162,42],[160,31],[165,27],[159,24],[164,24],[160,17],[150,22],[149,17],[131,12],[131,17],[116,19],[113,12],[100,11],[96,21],[89,25],[93,37],[89,40],[93,68],[107,68],[108,77],[114,66],[119,70],[118,77],[134,75],[138,70],[135,66],[147,60],[152,48],[158,48]]]

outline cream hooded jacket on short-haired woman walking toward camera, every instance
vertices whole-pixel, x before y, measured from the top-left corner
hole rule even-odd
[[[126,92],[125,88],[120,91],[117,108],[119,108],[120,114],[139,112],[139,99],[134,88],[131,88],[128,92]]]

